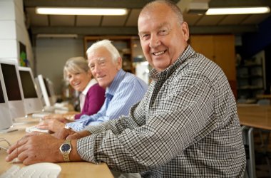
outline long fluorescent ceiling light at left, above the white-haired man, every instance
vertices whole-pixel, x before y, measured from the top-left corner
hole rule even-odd
[[[48,15],[93,15],[93,16],[123,16],[127,14],[127,9],[109,8],[49,8],[37,7],[36,14]]]

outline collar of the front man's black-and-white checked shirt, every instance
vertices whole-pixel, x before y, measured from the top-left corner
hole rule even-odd
[[[158,71],[155,68],[150,70],[150,74],[149,74],[150,78],[152,80],[158,80],[158,78],[160,78],[160,77],[167,78],[168,75],[171,75],[171,73],[173,73],[173,71],[175,71],[177,68],[179,68],[181,64],[183,64],[190,56],[193,56],[194,54],[195,54],[195,51],[193,50],[193,48],[190,45],[188,45],[188,47],[185,48],[185,51],[183,51],[183,53],[180,54],[178,59],[172,65],[170,65],[168,68],[166,68],[165,70]]]

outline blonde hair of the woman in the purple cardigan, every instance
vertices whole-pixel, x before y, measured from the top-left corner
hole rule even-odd
[[[79,57],[73,57],[69,58],[68,61],[66,61],[66,64],[63,68],[63,77],[65,80],[67,80],[68,76],[67,73],[81,73],[81,72],[88,72],[88,61],[86,61],[86,58],[83,58],[81,56]]]

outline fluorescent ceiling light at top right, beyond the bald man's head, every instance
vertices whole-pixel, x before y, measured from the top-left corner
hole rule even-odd
[[[268,6],[262,7],[234,7],[234,8],[210,8],[206,15],[226,15],[226,14],[265,14],[269,13]]]

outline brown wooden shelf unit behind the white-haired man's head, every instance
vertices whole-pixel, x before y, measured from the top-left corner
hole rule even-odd
[[[123,59],[123,70],[130,73],[135,73],[133,67],[133,40],[134,36],[85,36],[84,47],[85,51],[96,41],[108,39],[112,41],[113,46],[118,49]]]

